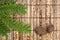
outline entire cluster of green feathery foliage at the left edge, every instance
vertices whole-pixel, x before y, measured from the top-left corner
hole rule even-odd
[[[30,32],[30,26],[22,21],[10,17],[12,14],[25,14],[27,7],[16,4],[16,0],[0,0],[0,35],[7,35],[10,30]]]

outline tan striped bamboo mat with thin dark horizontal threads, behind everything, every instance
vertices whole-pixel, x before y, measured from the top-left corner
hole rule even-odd
[[[60,0],[17,0],[16,3],[27,6],[27,14],[13,15],[18,21],[23,21],[31,26],[31,33],[18,33],[11,31],[8,37],[0,36],[0,40],[60,40]],[[54,25],[53,32],[39,36],[33,28],[49,23],[51,13],[51,23]],[[41,18],[42,17],[42,18]]]

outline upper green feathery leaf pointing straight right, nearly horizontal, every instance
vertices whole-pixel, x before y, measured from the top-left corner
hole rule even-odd
[[[5,14],[25,14],[27,7],[21,4],[11,4],[0,6],[0,13]]]

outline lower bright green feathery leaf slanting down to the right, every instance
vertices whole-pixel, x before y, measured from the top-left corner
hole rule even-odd
[[[28,32],[30,31],[30,26],[28,24],[23,23],[22,21],[17,21],[15,19],[12,19],[9,15],[6,14],[0,14],[1,19],[3,23],[8,25],[11,29],[14,29],[19,32]]]

